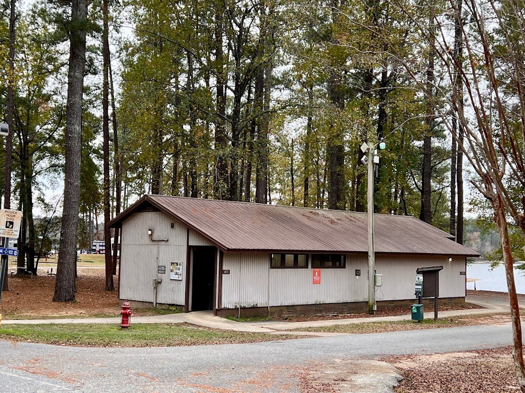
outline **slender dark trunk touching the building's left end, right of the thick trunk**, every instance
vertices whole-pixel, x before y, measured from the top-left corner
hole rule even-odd
[[[104,260],[106,261],[106,290],[115,290],[113,283],[113,260],[111,258],[111,229],[108,223],[110,216],[110,180],[109,180],[109,15],[108,0],[102,1],[102,57],[103,57],[103,77],[102,77],[102,134],[103,134],[103,167],[104,167]]]

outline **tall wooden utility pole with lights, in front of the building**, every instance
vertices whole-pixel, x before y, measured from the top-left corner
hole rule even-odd
[[[363,156],[361,161],[367,164],[367,218],[368,218],[368,313],[375,314],[375,250],[374,250],[374,163],[379,164],[379,156],[374,150],[377,145],[373,143],[363,143],[361,151],[367,156]],[[385,141],[379,142],[381,150],[386,148]]]

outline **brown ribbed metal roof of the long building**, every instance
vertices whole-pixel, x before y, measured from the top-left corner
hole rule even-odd
[[[225,251],[367,253],[366,213],[178,196],[145,195],[108,223],[160,210]],[[374,215],[376,253],[478,256],[450,234],[412,216]]]

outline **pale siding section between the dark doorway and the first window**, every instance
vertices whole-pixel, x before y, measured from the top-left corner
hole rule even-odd
[[[268,254],[225,253],[222,307],[268,306]]]

